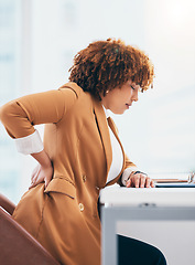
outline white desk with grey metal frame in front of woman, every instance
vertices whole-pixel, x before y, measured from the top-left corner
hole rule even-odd
[[[107,188],[100,203],[102,265],[117,265],[117,234],[155,245],[169,265],[195,265],[194,188]]]

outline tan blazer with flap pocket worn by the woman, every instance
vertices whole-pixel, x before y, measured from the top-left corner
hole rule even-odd
[[[41,183],[28,191],[13,218],[59,263],[99,265],[97,201],[112,160],[101,103],[75,83],[67,83],[58,91],[6,104],[0,117],[12,138],[31,135],[34,125],[46,124],[44,148],[54,166],[47,188]],[[119,140],[111,119],[109,126]],[[120,174],[108,184],[117,182],[129,166],[134,165],[124,156]]]

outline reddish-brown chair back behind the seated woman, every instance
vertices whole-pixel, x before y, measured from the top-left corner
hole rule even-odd
[[[15,205],[0,194],[0,264],[59,265],[57,261],[17,221]]]

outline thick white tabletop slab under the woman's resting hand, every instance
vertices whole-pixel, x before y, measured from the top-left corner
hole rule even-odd
[[[188,188],[112,188],[100,192],[100,203],[108,205],[195,206],[195,189]]]

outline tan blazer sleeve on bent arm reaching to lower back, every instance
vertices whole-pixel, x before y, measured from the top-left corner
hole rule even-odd
[[[0,108],[0,119],[12,138],[32,135],[34,125],[58,123],[77,99],[72,88],[23,96]]]

